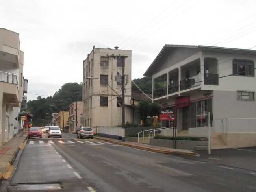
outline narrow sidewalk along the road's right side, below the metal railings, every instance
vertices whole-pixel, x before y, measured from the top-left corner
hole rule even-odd
[[[191,156],[198,156],[197,153],[194,153],[189,150],[182,150],[182,149],[172,149],[172,148],[165,148],[165,147],[159,147],[159,146],[153,146],[153,145],[147,145],[143,143],[136,143],[136,142],[122,142],[121,140],[106,138],[106,137],[99,137],[95,136],[94,138],[104,140],[106,142],[111,142],[123,146],[128,146],[136,149],[141,149],[145,151],[152,151],[156,153],[164,153],[164,154],[179,154],[179,155],[191,155]]]

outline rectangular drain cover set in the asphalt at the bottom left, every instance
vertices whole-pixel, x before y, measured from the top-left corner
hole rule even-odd
[[[29,190],[51,190],[61,189],[59,183],[37,183],[37,184],[18,184],[17,190],[29,191]]]

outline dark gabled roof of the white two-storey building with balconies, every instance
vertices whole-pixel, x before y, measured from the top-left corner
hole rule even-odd
[[[152,68],[154,65],[157,65],[157,61],[163,55],[167,54],[169,51],[175,48],[191,48],[197,49],[198,52],[203,51],[217,51],[217,52],[227,52],[227,53],[242,53],[242,54],[253,54],[256,55],[256,50],[252,49],[240,49],[240,48],[228,48],[228,47],[217,47],[217,46],[204,46],[204,45],[174,45],[174,44],[165,44],[161,51],[158,53],[154,61],[148,67],[146,72],[143,74],[144,76],[151,76],[152,75]],[[196,53],[195,53],[196,54]]]

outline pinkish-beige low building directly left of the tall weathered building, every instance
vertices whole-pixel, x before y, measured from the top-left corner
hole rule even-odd
[[[69,105],[69,132],[75,132],[79,126],[82,126],[80,121],[82,110],[83,110],[83,102],[81,101],[73,102]],[[76,114],[77,114],[78,127],[76,127]]]

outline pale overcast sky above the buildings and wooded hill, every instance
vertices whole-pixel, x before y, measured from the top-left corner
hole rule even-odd
[[[28,100],[82,82],[93,46],[132,50],[132,79],[165,44],[256,49],[255,0],[2,0],[0,28],[20,34]]]

